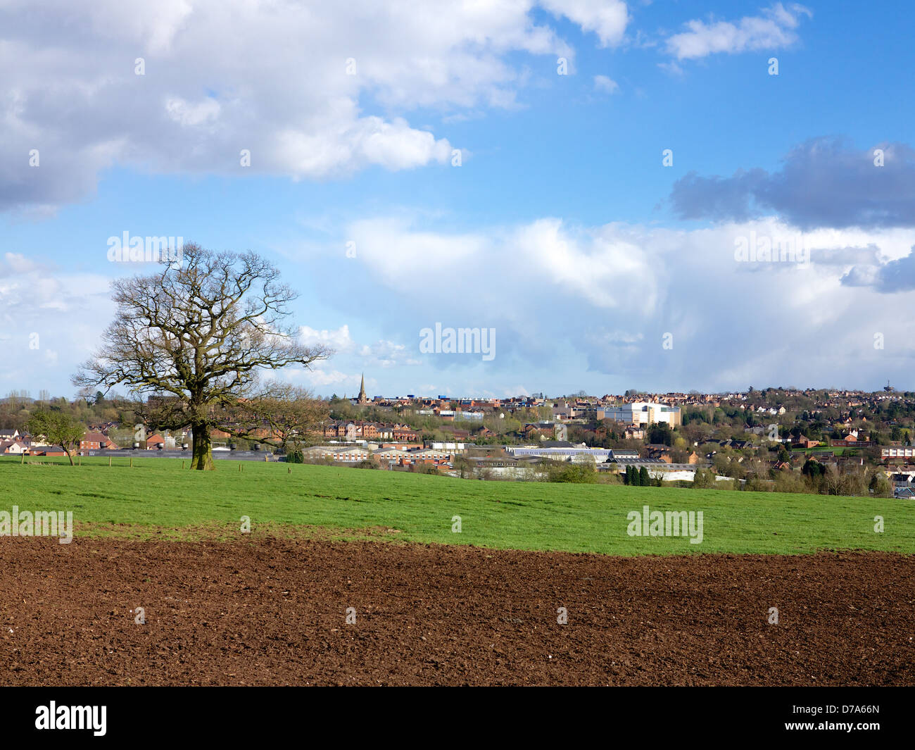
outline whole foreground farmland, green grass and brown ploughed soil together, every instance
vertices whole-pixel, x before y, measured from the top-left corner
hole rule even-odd
[[[915,684],[913,501],[159,458],[0,495],[3,685]]]

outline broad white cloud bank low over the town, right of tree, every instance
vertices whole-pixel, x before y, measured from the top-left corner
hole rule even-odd
[[[478,392],[472,388],[478,383],[479,392],[513,387],[518,372],[532,374],[527,387],[533,390],[551,377],[572,378],[576,388],[586,379],[606,384],[595,385],[601,392],[633,384],[866,384],[887,370],[896,376],[915,359],[903,347],[890,362],[872,346],[874,331],[893,332],[895,342],[915,333],[915,321],[889,310],[879,294],[892,284],[901,289],[902,282],[853,288],[844,278],[868,264],[887,264],[888,278],[904,278],[911,261],[888,261],[909,253],[912,235],[902,228],[803,231],[772,217],[696,230],[587,227],[558,218],[474,233],[389,218],[357,225],[356,262],[371,278],[386,338],[442,372],[429,382],[459,383],[462,393]],[[739,260],[736,248],[747,236],[768,237],[775,247],[801,236],[810,262],[780,261],[778,253],[774,261]],[[416,267],[411,264],[424,246],[430,249],[422,263],[425,281],[417,284],[403,269]],[[454,272],[481,267],[486,274]],[[415,329],[436,321],[494,328],[495,358],[481,363],[479,356],[419,353]],[[668,333],[672,348],[663,346]]]

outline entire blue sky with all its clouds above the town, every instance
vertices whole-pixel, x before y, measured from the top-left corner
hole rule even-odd
[[[75,393],[155,270],[125,233],[270,259],[324,396],[915,390],[912,38],[842,0],[0,0],[0,394]]]

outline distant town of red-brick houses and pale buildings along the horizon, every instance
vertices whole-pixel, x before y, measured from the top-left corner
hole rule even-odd
[[[211,432],[214,457],[347,465],[507,481],[686,484],[833,495],[915,496],[915,393],[767,387],[701,394],[507,398],[315,398],[293,436],[264,423],[254,440]],[[84,426],[77,456],[187,455],[189,429],[160,430],[135,402],[84,395],[0,399],[0,453],[66,455],[29,434],[37,409]]]

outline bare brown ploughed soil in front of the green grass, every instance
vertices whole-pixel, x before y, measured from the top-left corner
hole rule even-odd
[[[912,685],[913,638],[884,553],[0,538],[3,685]]]

